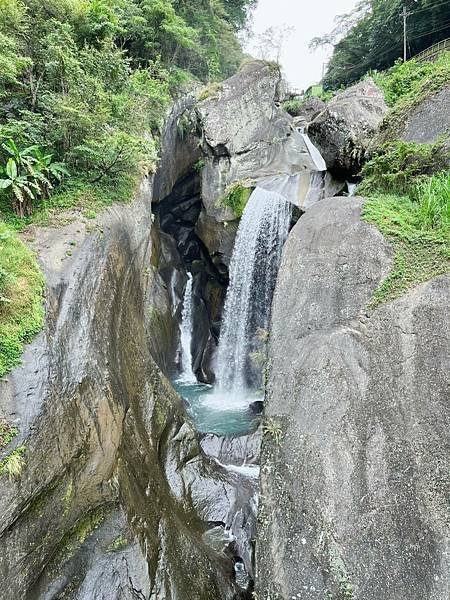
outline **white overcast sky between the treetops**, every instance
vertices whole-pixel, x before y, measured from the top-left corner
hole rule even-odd
[[[324,49],[310,52],[310,40],[329,33],[336,15],[350,12],[356,4],[357,0],[259,0],[252,30],[258,36],[272,26],[294,28],[285,41],[281,64],[292,86],[303,90],[321,79],[323,63],[330,55]],[[255,38],[247,43],[247,51],[256,54]]]

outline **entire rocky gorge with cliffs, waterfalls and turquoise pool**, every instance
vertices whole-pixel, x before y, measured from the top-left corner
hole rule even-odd
[[[346,181],[387,106],[343,96],[305,129],[248,62],[173,107],[131,205],[29,236],[2,599],[447,599],[450,278],[371,304],[394,250]]]

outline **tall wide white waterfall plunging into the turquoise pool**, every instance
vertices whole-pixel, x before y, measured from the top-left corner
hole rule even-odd
[[[291,221],[291,204],[274,191],[256,188],[239,225],[230,265],[217,360],[219,388],[243,392],[257,384],[251,355],[261,349],[281,251]]]

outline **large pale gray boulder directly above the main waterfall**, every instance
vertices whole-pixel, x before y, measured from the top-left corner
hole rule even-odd
[[[220,202],[232,183],[299,174],[309,183],[309,173],[316,170],[292,118],[279,107],[283,93],[279,68],[255,61],[198,104],[205,153],[202,199],[216,221],[236,219]],[[301,205],[308,185],[299,190]]]

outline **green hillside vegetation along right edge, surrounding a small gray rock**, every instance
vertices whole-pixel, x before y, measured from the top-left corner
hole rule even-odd
[[[395,249],[394,268],[377,290],[374,307],[450,271],[448,139],[433,144],[398,139],[414,106],[450,85],[450,53],[435,62],[399,62],[370,75],[384,91],[390,111],[381,133],[385,142],[369,151],[358,193],[368,198],[364,218]]]

